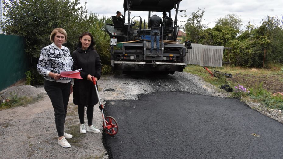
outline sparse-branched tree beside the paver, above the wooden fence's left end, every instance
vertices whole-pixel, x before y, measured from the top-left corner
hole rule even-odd
[[[185,16],[186,11],[185,11]],[[187,19],[185,25],[182,27],[182,29],[186,33],[186,39],[190,40],[192,43],[201,43],[204,39],[204,29],[207,27],[206,24],[202,24],[202,20],[204,20],[203,17],[204,10],[197,9],[196,12],[192,12],[190,17]]]

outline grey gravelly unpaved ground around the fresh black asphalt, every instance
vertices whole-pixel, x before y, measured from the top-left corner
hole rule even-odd
[[[141,74],[103,76],[98,85],[102,102],[109,99],[138,99],[139,94],[155,91],[172,93],[184,91],[221,98],[229,96],[196,75],[179,72],[168,76]],[[44,90],[42,87],[37,89]],[[72,139],[68,139],[71,148],[65,149],[57,144],[54,110],[48,96],[45,95],[42,101],[35,104],[0,111],[0,156],[3,158],[108,158],[101,140],[102,133],[79,133],[77,107],[72,101],[71,95],[65,123],[65,131],[73,135]],[[246,103],[251,108],[283,123],[283,115],[280,111],[267,110],[257,103]],[[93,124],[101,130],[101,114],[98,106],[96,108]]]

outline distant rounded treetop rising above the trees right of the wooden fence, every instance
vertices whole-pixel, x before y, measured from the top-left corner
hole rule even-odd
[[[243,24],[240,16],[237,16],[236,14],[228,14],[223,18],[221,17],[220,19],[217,19],[215,26],[217,25],[229,26],[239,31]]]

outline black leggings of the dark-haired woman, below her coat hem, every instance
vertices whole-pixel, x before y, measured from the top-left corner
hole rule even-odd
[[[94,105],[86,105],[86,116],[87,116],[87,125],[93,125],[93,106]],[[85,105],[78,105],[78,114],[79,114],[79,119],[80,123],[84,124],[84,116],[85,116]]]

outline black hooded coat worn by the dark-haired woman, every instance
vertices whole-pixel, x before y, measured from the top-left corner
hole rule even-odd
[[[83,79],[75,79],[74,90],[74,104],[76,105],[94,105],[98,103],[98,98],[94,85],[87,80],[87,75],[90,74],[97,79],[101,76],[101,62],[98,53],[95,50],[82,50],[77,48],[72,54],[74,60],[73,69],[82,68],[80,73]]]

